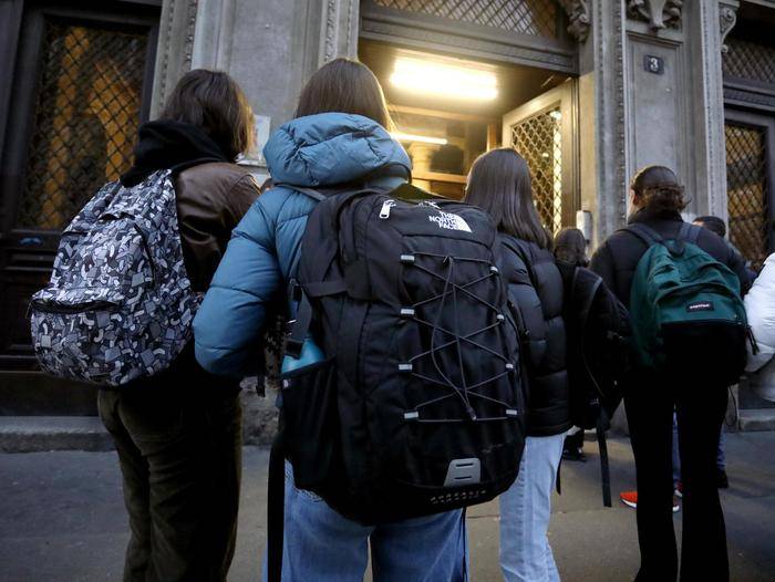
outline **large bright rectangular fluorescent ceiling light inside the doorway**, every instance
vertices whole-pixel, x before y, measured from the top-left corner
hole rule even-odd
[[[453,98],[492,101],[498,96],[495,73],[403,56],[395,60],[390,82],[400,89]]]

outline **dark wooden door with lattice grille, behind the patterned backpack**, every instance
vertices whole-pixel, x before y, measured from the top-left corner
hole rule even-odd
[[[149,110],[159,6],[0,7],[9,90],[0,91],[0,370],[34,368],[29,298],[49,278],[62,228],[131,164]]]

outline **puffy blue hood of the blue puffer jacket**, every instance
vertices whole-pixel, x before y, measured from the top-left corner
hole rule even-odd
[[[366,176],[407,177],[412,163],[376,122],[345,113],[320,113],[278,128],[264,148],[276,184],[316,187]]]

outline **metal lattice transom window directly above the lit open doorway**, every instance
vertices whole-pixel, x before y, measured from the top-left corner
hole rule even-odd
[[[554,0],[374,0],[374,3],[524,34],[557,38],[558,14]]]

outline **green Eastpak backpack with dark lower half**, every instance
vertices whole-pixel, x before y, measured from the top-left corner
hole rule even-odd
[[[649,245],[630,291],[636,362],[736,383],[748,336],[737,276],[698,247],[701,227],[684,222],[674,239],[641,224],[626,230]]]

